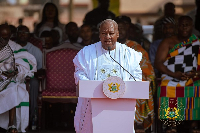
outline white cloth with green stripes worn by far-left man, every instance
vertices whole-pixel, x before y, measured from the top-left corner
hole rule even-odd
[[[29,121],[29,94],[24,82],[26,76],[33,77],[34,72],[37,71],[36,59],[25,49],[21,49],[22,47],[15,42],[10,40],[8,44],[13,50],[18,74],[0,92],[0,127],[8,129],[9,110],[16,107],[15,126],[18,132],[26,132],[25,129]],[[1,58],[0,60],[4,59]],[[0,69],[3,69],[2,67]]]

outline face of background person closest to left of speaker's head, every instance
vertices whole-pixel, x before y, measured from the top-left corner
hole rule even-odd
[[[84,26],[80,30],[80,36],[83,40],[88,41],[91,40],[92,30],[89,26]]]

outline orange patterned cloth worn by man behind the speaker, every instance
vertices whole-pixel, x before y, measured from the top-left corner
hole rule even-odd
[[[144,129],[146,130],[151,126],[154,118],[153,94],[156,90],[154,69],[149,60],[148,53],[140,44],[135,41],[127,40],[126,45],[142,53],[142,60],[140,62],[142,81],[149,81],[151,83],[149,86],[149,99],[136,100],[135,121],[143,123]]]

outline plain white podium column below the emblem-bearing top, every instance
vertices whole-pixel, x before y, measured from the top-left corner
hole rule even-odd
[[[93,133],[133,133],[135,99],[92,98]]]

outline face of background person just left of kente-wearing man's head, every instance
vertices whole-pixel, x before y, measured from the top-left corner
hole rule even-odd
[[[164,38],[175,35],[175,25],[172,23],[166,23],[163,27]]]

